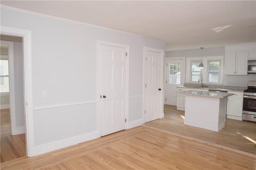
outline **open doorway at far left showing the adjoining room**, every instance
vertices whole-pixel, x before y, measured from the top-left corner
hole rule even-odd
[[[1,163],[26,156],[23,39],[1,34]]]

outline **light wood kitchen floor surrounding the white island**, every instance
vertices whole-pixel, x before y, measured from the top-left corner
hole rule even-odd
[[[218,132],[184,125],[184,111],[176,106],[164,106],[164,118],[144,125],[189,139],[206,142],[223,148],[256,155],[256,122],[226,119],[225,127]],[[250,141],[251,140],[251,141]],[[246,153],[245,153],[246,154]]]

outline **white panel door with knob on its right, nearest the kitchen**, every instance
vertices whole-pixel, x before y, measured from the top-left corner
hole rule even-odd
[[[159,119],[162,112],[162,53],[145,51],[144,122]]]

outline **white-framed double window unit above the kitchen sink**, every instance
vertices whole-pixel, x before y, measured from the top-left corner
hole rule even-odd
[[[199,68],[201,61],[204,64],[202,70]],[[202,73],[203,83],[222,84],[223,61],[223,56],[188,57],[186,82],[198,83],[198,76]]]

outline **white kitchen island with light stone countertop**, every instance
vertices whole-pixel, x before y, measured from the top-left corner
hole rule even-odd
[[[184,124],[212,131],[225,127],[227,97],[232,93],[188,90],[186,95]]]

